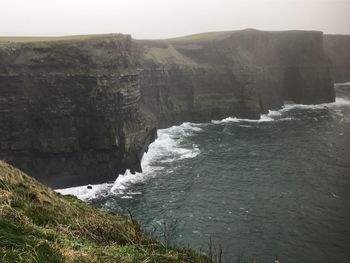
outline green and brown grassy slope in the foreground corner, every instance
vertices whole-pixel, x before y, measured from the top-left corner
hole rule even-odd
[[[0,161],[0,262],[210,262],[167,248],[129,216],[62,196]]]

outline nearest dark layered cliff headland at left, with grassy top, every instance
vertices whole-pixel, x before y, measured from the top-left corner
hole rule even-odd
[[[1,159],[54,187],[141,171],[156,131],[130,37],[8,44],[0,61]]]

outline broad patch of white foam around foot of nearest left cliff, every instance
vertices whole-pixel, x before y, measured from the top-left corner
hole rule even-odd
[[[88,189],[85,185],[56,189],[55,191],[64,195],[75,195],[85,201],[109,194],[120,195],[121,198],[131,199],[133,196],[142,193],[129,192],[130,186],[145,182],[162,174],[164,164],[166,163],[194,158],[200,154],[197,145],[183,142],[187,136],[201,132],[202,128],[199,126],[199,124],[186,122],[179,126],[158,130],[157,140],[149,146],[148,152],[142,158],[142,173],[132,174],[127,170],[124,174],[119,175],[114,183],[91,185],[92,189]]]

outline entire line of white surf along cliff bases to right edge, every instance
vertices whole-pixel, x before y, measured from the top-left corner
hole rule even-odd
[[[309,109],[319,110],[325,108],[336,108],[342,106],[350,106],[350,99],[345,97],[337,97],[333,103],[323,103],[317,105],[304,104],[287,104],[280,110],[269,111],[268,114],[261,115],[259,120],[240,119],[236,117],[228,117],[223,120],[213,120],[212,124],[222,124],[237,122],[241,123],[240,127],[249,128],[253,124],[265,122],[291,121],[294,118],[285,117],[286,112],[293,109]],[[141,162],[142,173],[131,174],[128,170],[124,174],[119,175],[114,183],[104,183],[92,185],[92,189],[87,186],[71,187],[66,189],[57,189],[61,194],[72,194],[82,200],[94,199],[108,194],[117,194],[127,196],[125,198],[133,198],[133,192],[128,192],[130,186],[145,182],[163,173],[168,163],[181,161],[184,159],[195,158],[200,154],[200,150],[195,144],[188,144],[184,141],[187,136],[192,136],[202,132],[206,124],[196,124],[185,122],[178,126],[172,126],[167,129],[158,130],[157,140],[149,146],[148,153],[144,154]],[[142,194],[137,192],[137,194]]]

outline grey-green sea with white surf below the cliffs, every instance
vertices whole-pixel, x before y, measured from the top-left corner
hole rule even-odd
[[[207,251],[211,239],[231,262],[350,262],[350,83],[336,89],[335,103],[259,121],[160,130],[143,173],[59,191],[130,210],[166,244]]]

